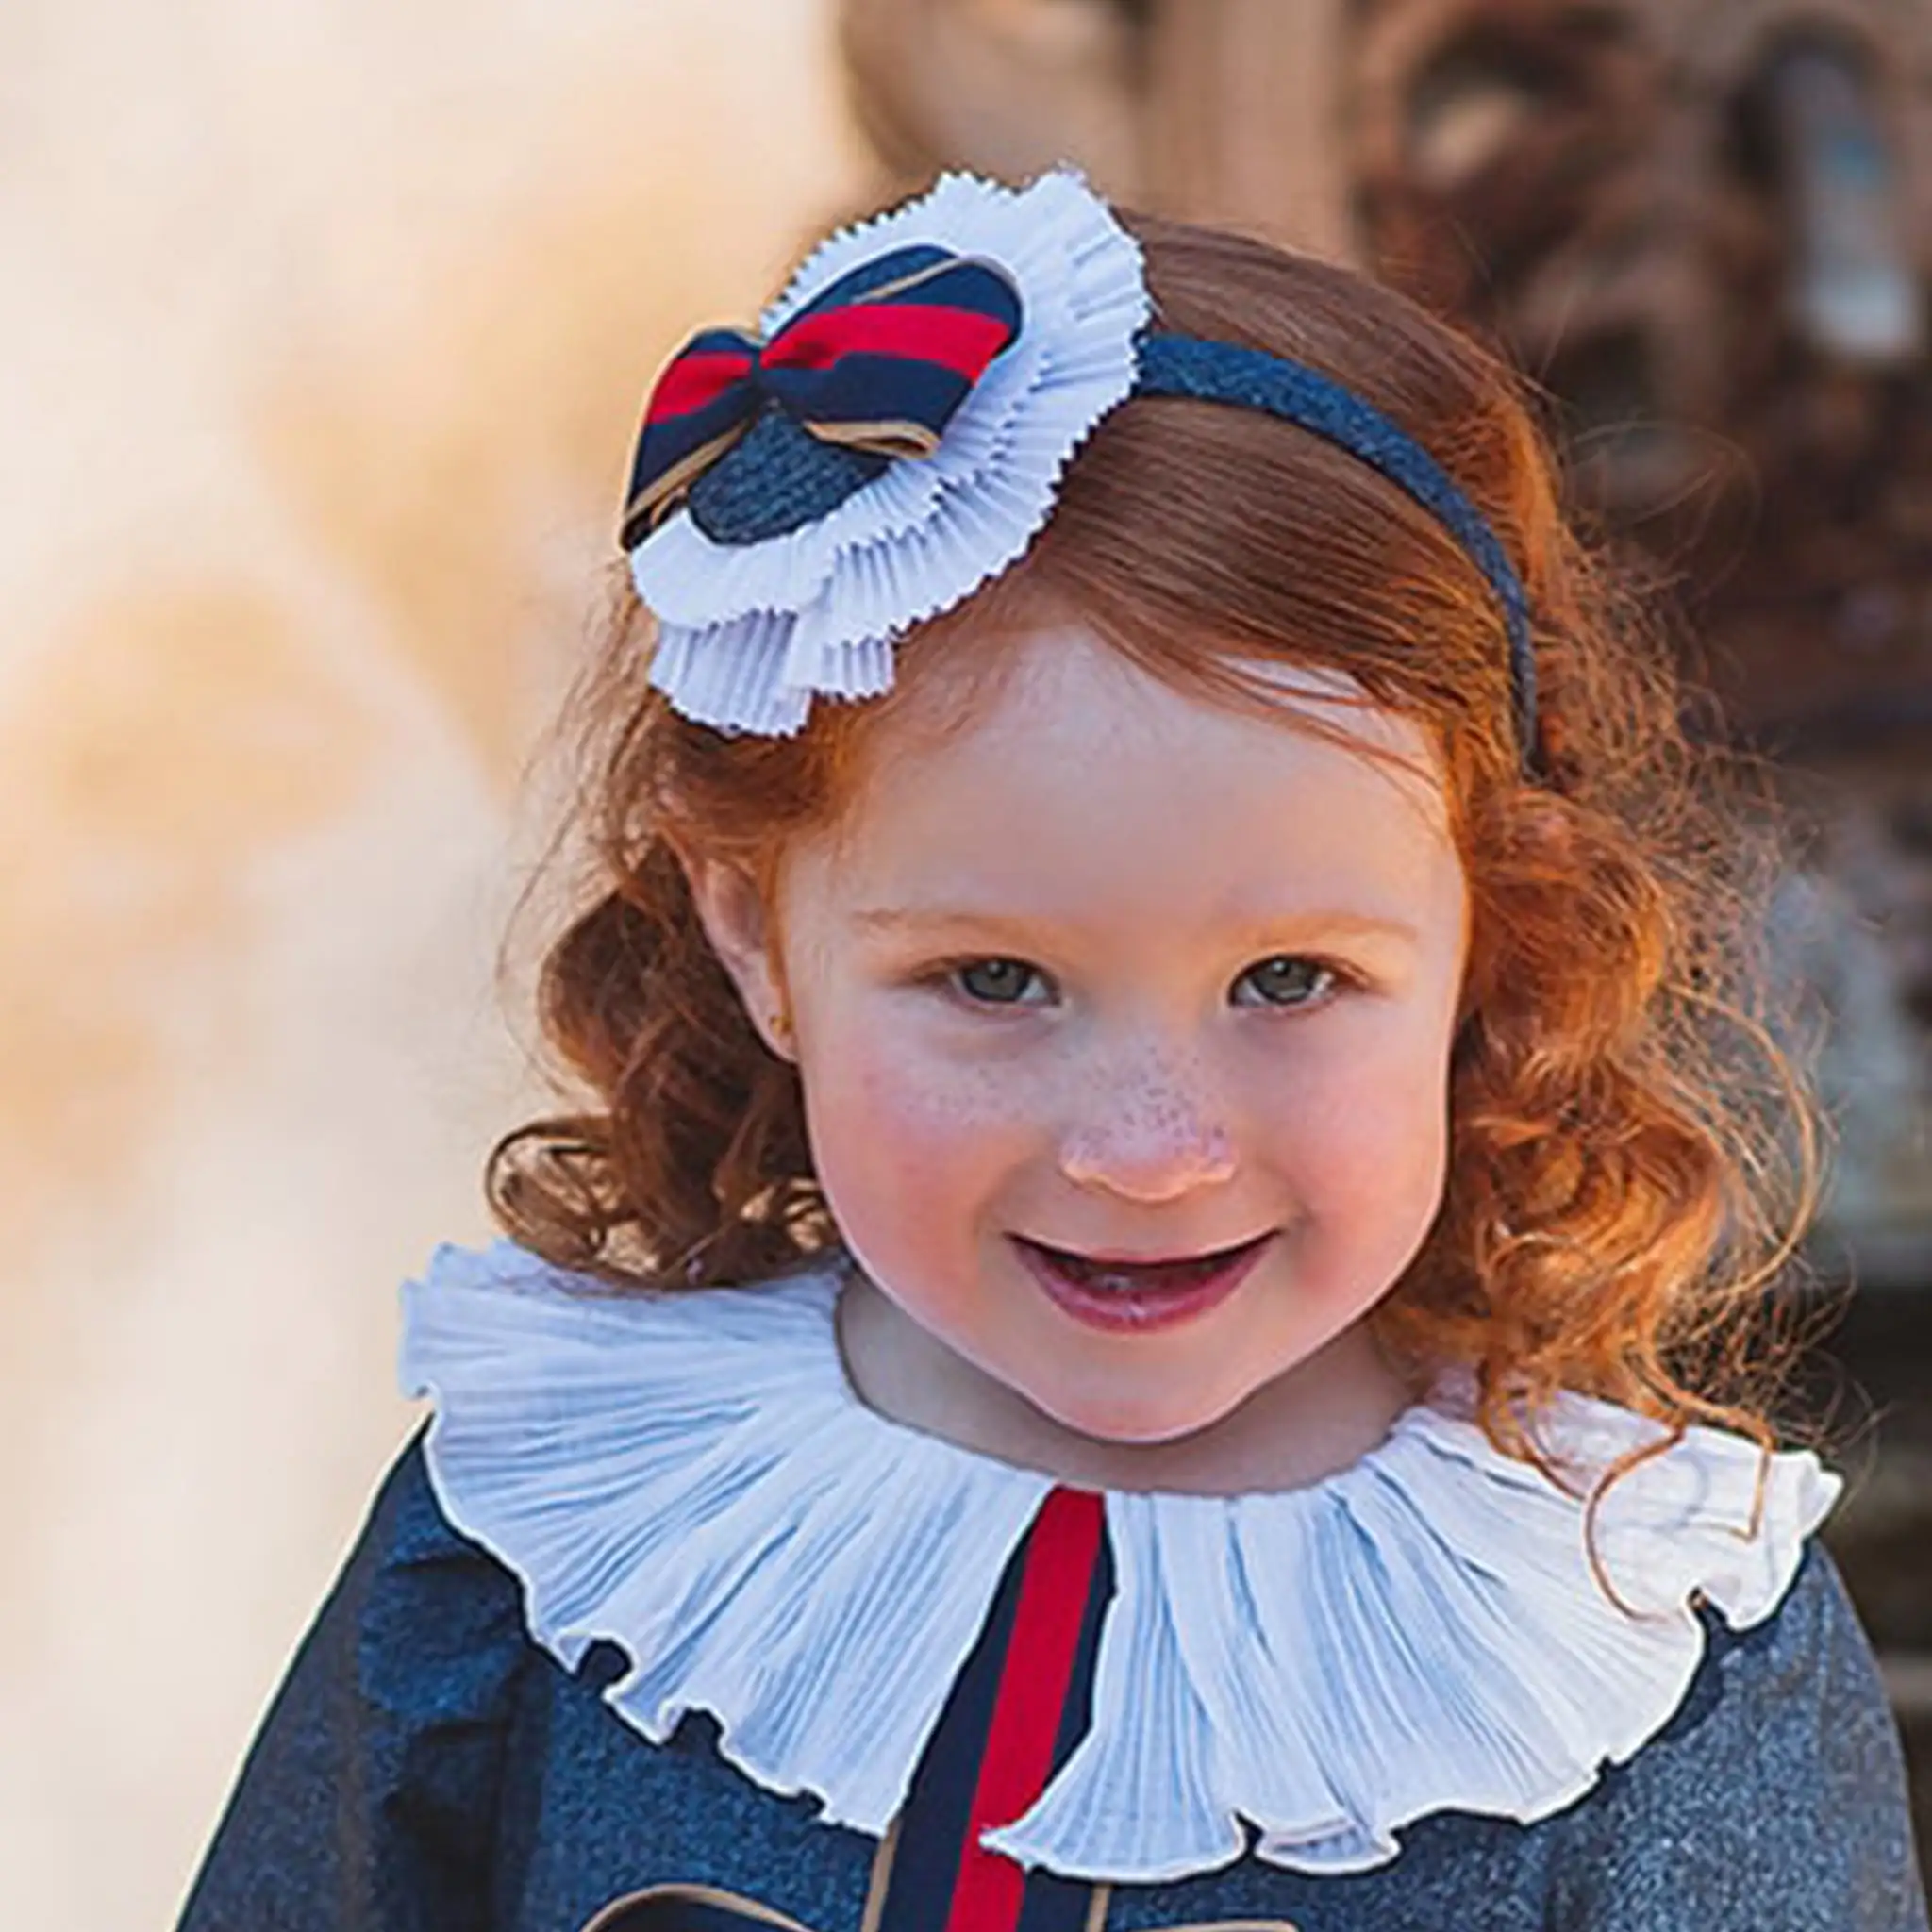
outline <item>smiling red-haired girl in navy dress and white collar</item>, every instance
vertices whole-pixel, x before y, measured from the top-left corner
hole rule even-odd
[[[189,1932],[1909,1932],[1756,833],[1503,371],[952,176],[653,392],[587,1094]]]

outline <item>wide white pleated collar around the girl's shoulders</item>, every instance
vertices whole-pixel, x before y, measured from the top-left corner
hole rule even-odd
[[[533,1638],[630,1671],[605,1696],[663,1743],[688,1710],[779,1793],[881,1835],[1053,1480],[867,1408],[837,1269],[612,1294],[510,1242],[437,1250],[404,1289],[402,1379],[435,1399],[448,1519],[522,1580]],[[1656,1424],[1565,1395],[1588,1474]],[[1105,1497],[1117,1594],[1086,1739],[985,1843],[1070,1878],[1175,1880],[1254,1851],[1300,1872],[1397,1853],[1437,1810],[1532,1822],[1677,1710],[1702,1594],[1783,1598],[1839,1480],[1690,1434],[1584,1511],[1480,1428],[1406,1410],[1304,1490]],[[1252,1839],[1250,1839],[1252,1828]]]

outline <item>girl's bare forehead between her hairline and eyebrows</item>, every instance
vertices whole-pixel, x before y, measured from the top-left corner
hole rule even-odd
[[[1343,672],[1252,667],[1279,696],[1264,715],[1177,690],[1082,626],[1003,649],[952,717],[920,692],[883,723],[831,840],[852,883],[951,869],[1061,895],[1134,875],[1401,889],[1453,860],[1424,730]]]

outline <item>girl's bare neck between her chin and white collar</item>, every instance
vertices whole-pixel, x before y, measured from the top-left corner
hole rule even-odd
[[[1105,1441],[954,1354],[856,1267],[838,1298],[838,1349],[852,1389],[877,1414],[1082,1490],[1300,1490],[1358,1463],[1416,1399],[1356,1321],[1204,1430]]]

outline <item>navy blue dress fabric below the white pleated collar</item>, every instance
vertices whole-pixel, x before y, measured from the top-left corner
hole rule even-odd
[[[1099,1575],[1095,1604],[1103,1592]],[[981,1652],[1010,1613],[1003,1584]],[[688,1718],[663,1747],[639,1737],[599,1696],[622,1667],[611,1646],[576,1673],[539,1650],[516,1578],[446,1522],[412,1445],[263,1723],[180,1932],[583,1932],[593,1920],[599,1932],[1229,1920],[1926,1932],[1897,1731],[1832,1559],[1812,1544],[1777,1613],[1748,1633],[1702,1615],[1708,1652],[1669,1725],[1540,1824],[1439,1812],[1403,1832],[1393,1862],[1350,1876],[1242,1859],[1095,1893],[1036,1872],[1009,1905],[962,1920],[933,1847],[951,1820],[956,1853],[981,1652],[922,1760],[891,1866],[871,1837],[819,1822],[813,1801],[775,1797],[726,1764],[709,1719]],[[1057,1758],[1078,1733],[1076,1696],[1078,1683]]]

